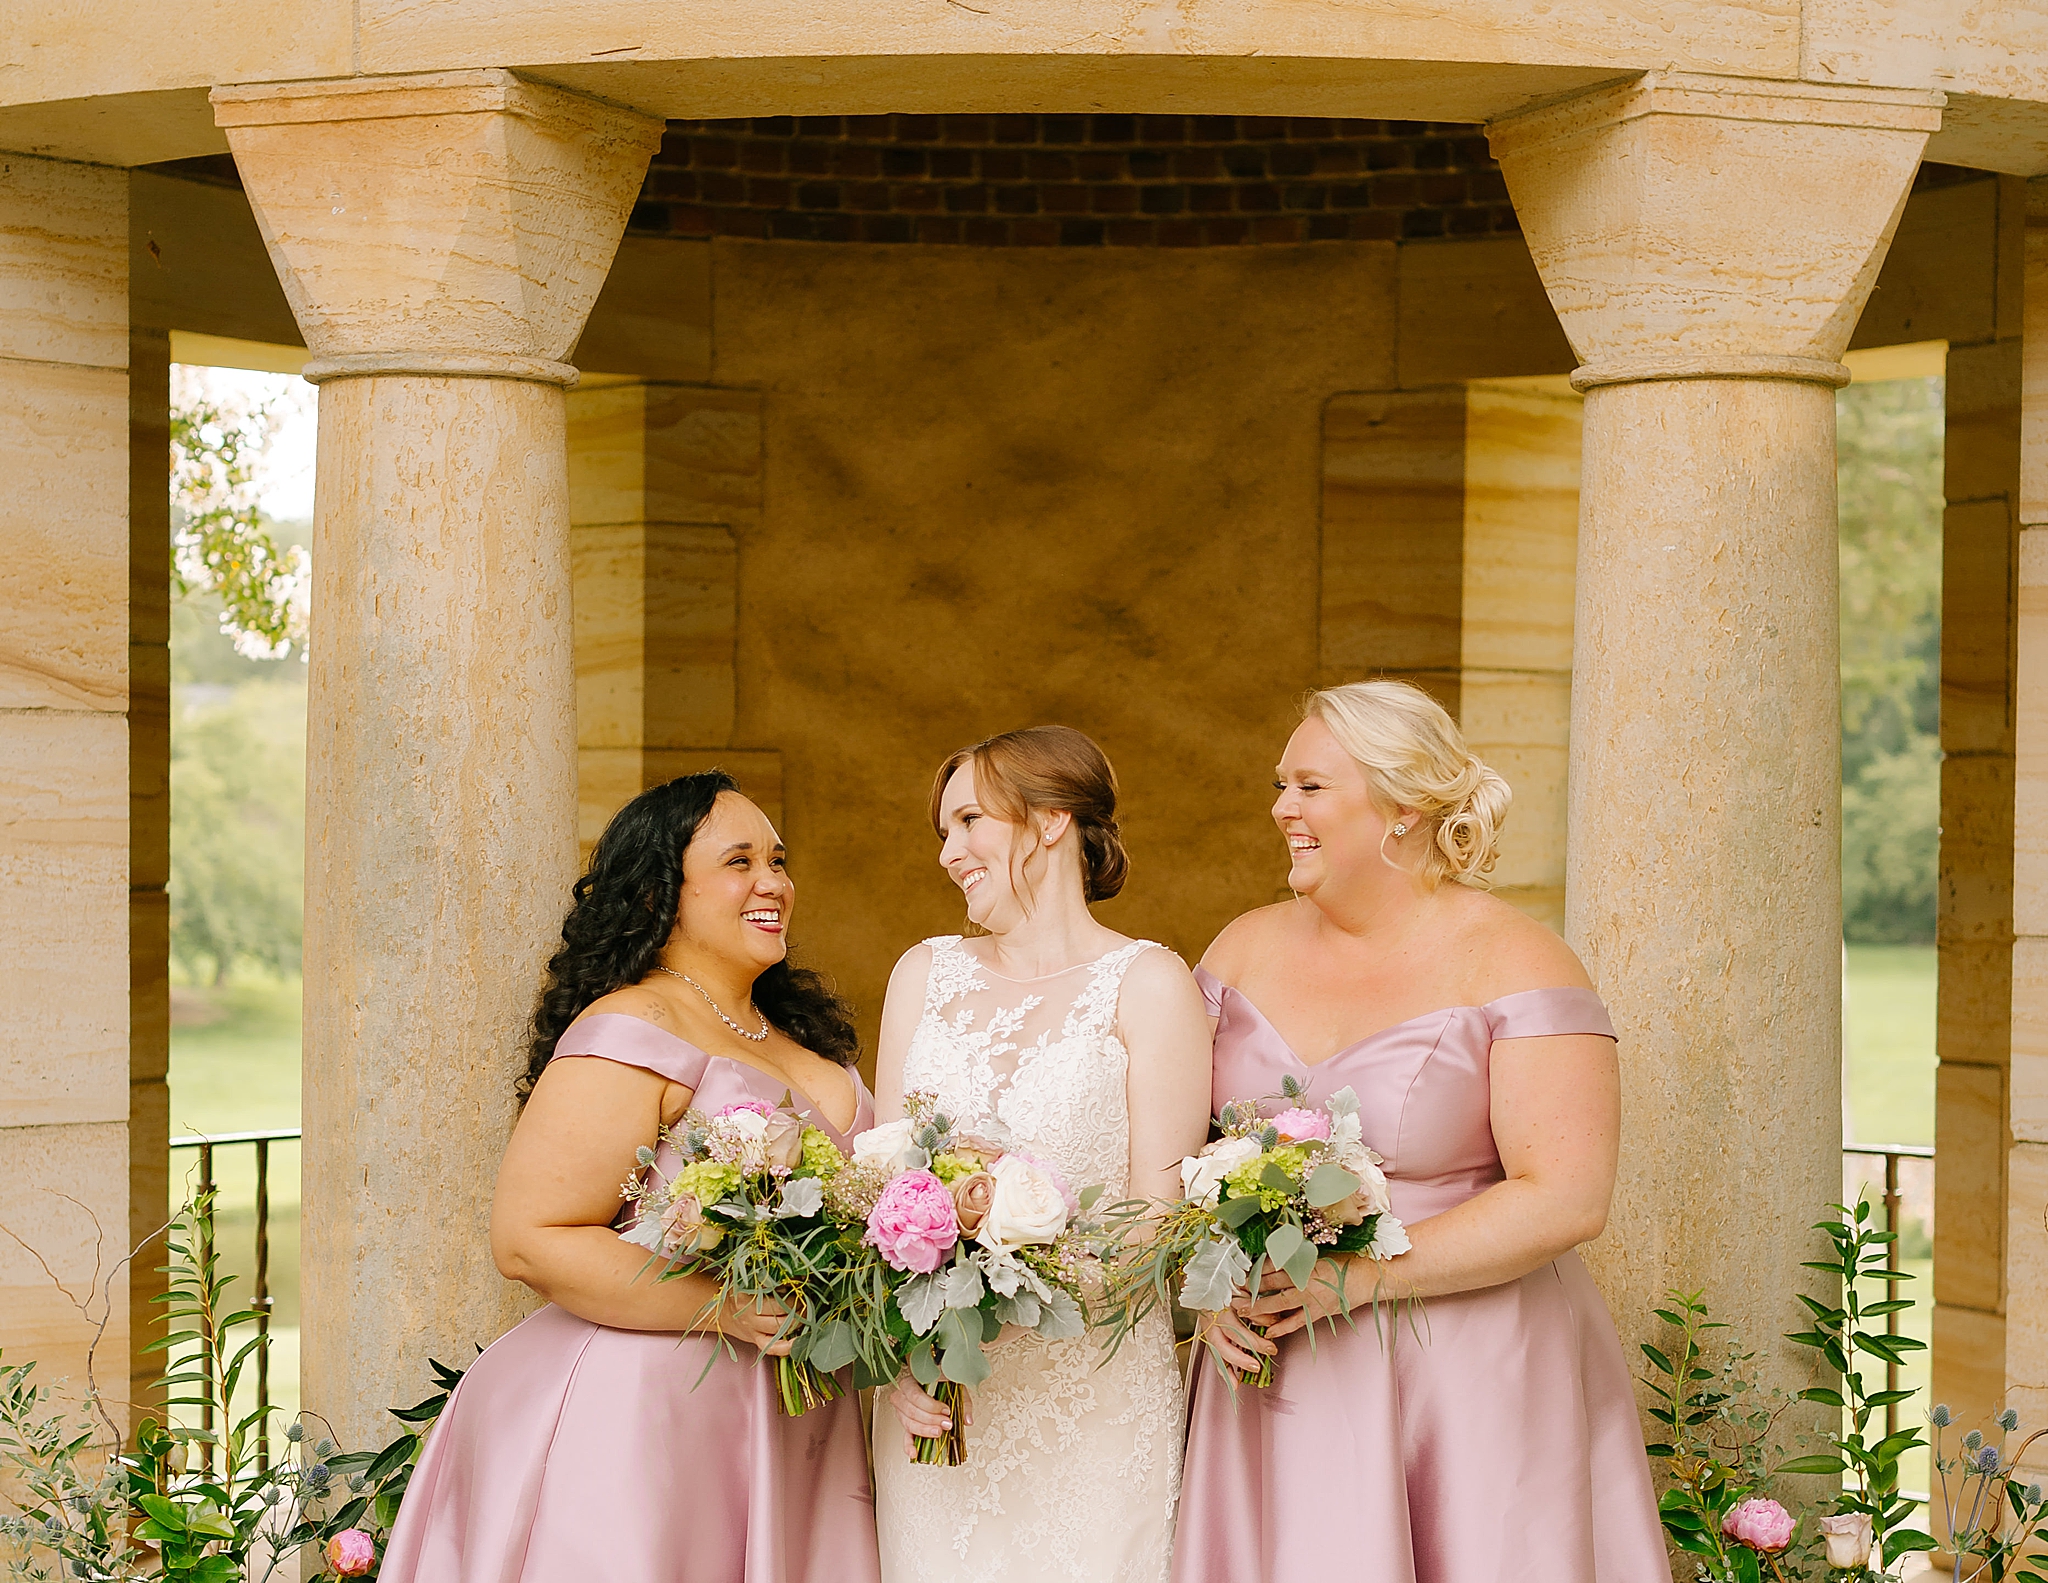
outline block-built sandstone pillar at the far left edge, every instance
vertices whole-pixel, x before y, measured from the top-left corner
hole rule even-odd
[[[0,1350],[76,1397],[104,1319],[94,1372],[121,1419],[135,1149],[119,170],[0,154]],[[160,1182],[152,1147],[162,1126],[141,1147]]]

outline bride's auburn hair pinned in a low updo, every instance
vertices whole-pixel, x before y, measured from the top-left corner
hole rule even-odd
[[[1130,858],[1116,825],[1116,770],[1085,731],[1071,725],[1032,725],[963,747],[938,766],[932,780],[932,829],[944,838],[946,782],[965,764],[975,766],[975,799],[1032,844],[1012,856],[1012,866],[1038,848],[1032,813],[1073,815],[1081,842],[1081,889],[1087,901],[1108,901],[1124,889]],[[1028,901],[1028,897],[1026,897]]]

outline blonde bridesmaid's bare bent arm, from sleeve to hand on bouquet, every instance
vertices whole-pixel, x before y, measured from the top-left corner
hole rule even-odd
[[[1608,1225],[1622,1135],[1622,1081],[1614,1040],[1597,1034],[1503,1038],[1491,1059],[1493,1141],[1507,1180],[1444,1214],[1409,1227],[1413,1249],[1384,1264],[1352,1255],[1346,1304],[1393,1296],[1444,1296],[1501,1286],[1597,1237]],[[1286,1335],[1337,1309],[1319,1268],[1307,1294],[1268,1278],[1253,1317]],[[1284,1290],[1282,1290],[1284,1288]],[[1307,1315],[1307,1317],[1305,1317]]]

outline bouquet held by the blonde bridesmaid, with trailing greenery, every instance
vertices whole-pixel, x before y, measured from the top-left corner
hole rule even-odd
[[[1180,1163],[1182,1200],[1165,1214],[1147,1202],[1116,1206],[1102,1321],[1110,1356],[1169,1300],[1176,1276],[1182,1307],[1212,1315],[1231,1304],[1239,1286],[1257,1290],[1268,1266],[1307,1290],[1327,1253],[1391,1259],[1407,1251],[1384,1161],[1360,1135],[1358,1096],[1343,1087],[1321,1110],[1309,1110],[1296,1104],[1300,1081],[1286,1077],[1282,1098],[1288,1108],[1270,1120],[1257,1100],[1223,1106],[1223,1137]],[[1341,1294],[1341,1266],[1337,1280]],[[1251,1384],[1272,1384],[1272,1358]]]

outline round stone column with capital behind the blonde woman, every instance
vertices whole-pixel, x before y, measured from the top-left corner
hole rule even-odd
[[[1782,1384],[1841,1186],[1833,389],[1937,106],[1651,74],[1491,127],[1587,393],[1565,911],[1626,1106],[1591,1261],[1628,1341],[1704,1288]]]

